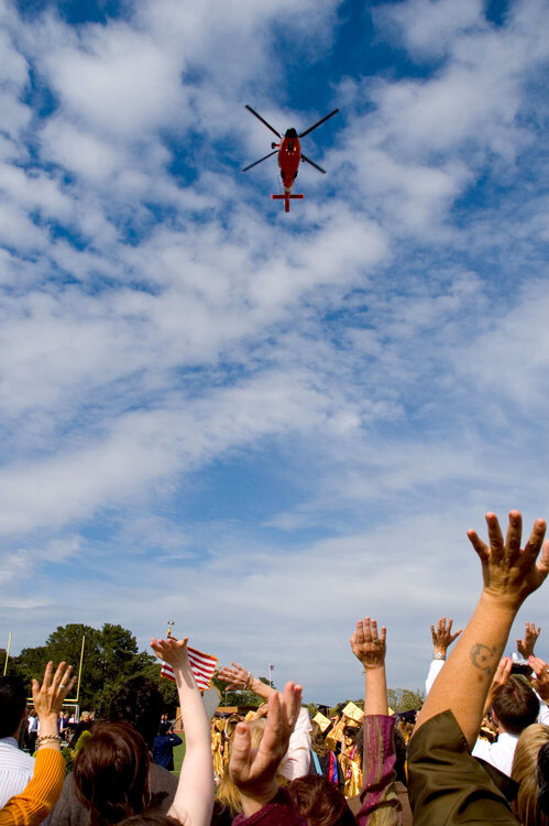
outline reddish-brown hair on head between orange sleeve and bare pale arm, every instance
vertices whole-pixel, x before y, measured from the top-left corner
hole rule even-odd
[[[97,722],[74,765],[75,785],[91,826],[114,824],[149,803],[149,749],[129,722]]]

